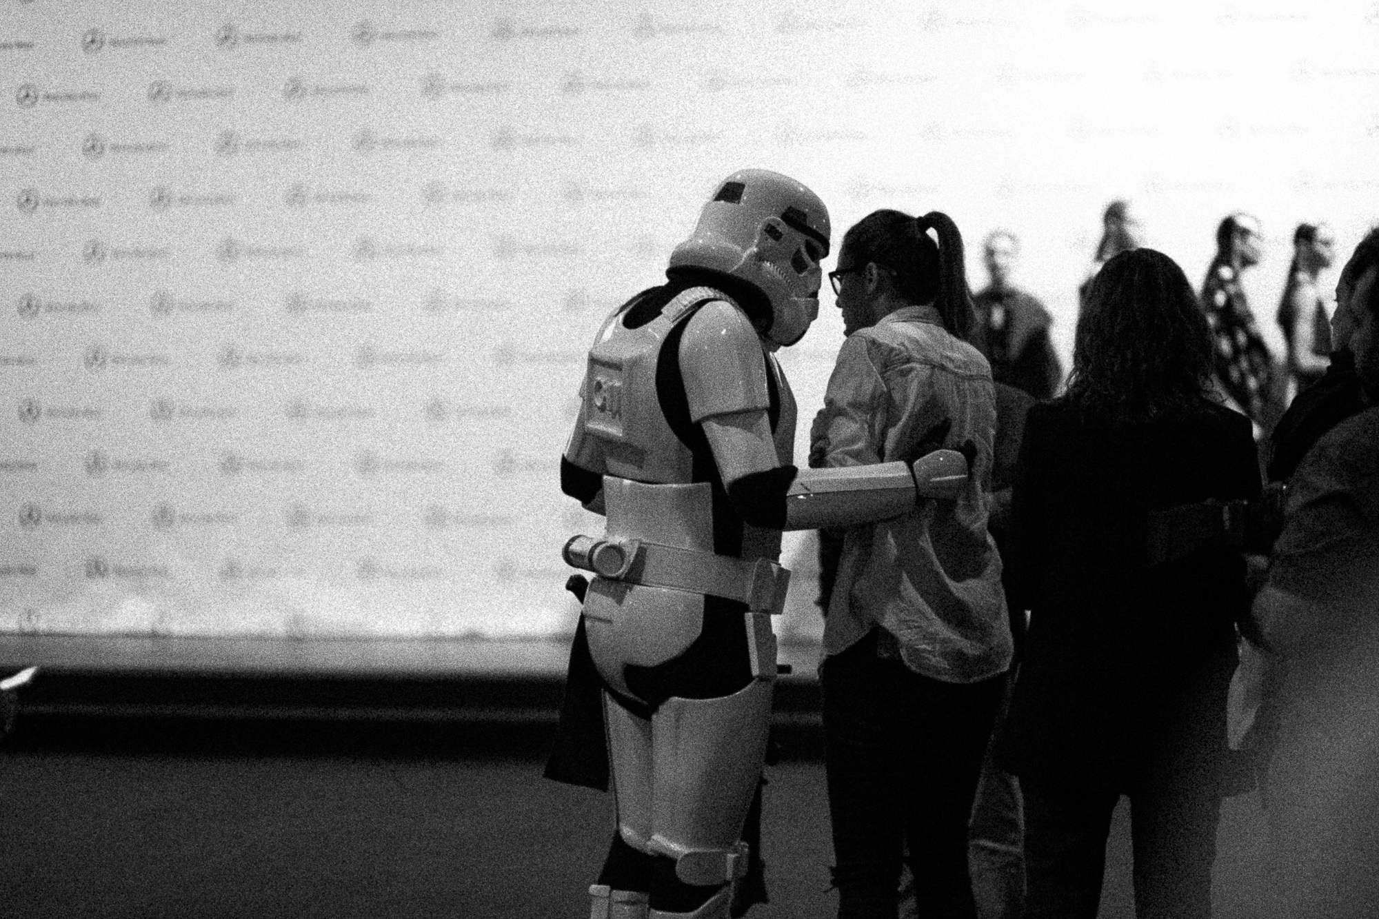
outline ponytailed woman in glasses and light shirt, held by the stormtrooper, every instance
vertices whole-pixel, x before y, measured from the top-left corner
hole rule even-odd
[[[924,915],[969,919],[968,817],[1012,642],[986,527],[996,399],[967,342],[963,237],[939,211],[874,211],[829,277],[847,338],[811,466],[954,446],[971,462],[954,500],[844,531],[821,665],[838,916],[896,916],[905,861]]]

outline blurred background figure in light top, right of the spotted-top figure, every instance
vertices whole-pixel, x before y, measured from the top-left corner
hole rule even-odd
[[[1336,241],[1325,224],[1299,224],[1294,230],[1294,258],[1278,302],[1278,327],[1288,349],[1288,373],[1298,392],[1321,379],[1331,355],[1331,327],[1317,276],[1331,268]]]

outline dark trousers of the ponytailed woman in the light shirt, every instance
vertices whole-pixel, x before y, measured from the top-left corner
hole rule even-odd
[[[974,919],[968,816],[1004,679],[943,683],[876,644],[873,632],[821,673],[838,918],[894,919],[907,860],[921,916]]]

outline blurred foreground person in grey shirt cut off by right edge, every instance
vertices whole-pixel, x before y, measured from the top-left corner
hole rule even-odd
[[[1372,916],[1379,902],[1379,233],[1336,286],[1332,327],[1364,408],[1289,477],[1251,632],[1277,712],[1263,782],[1277,915]]]

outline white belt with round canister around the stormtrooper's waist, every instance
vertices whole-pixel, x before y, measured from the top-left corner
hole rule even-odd
[[[721,596],[772,615],[785,607],[790,585],[790,571],[767,559],[747,562],[641,540],[576,535],[563,555],[567,564],[610,581]]]

